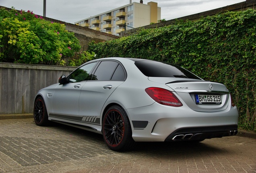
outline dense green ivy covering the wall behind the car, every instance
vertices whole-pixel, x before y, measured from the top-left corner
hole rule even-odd
[[[226,12],[196,21],[142,29],[98,44],[97,57],[147,58],[178,64],[225,84],[239,111],[239,127],[256,131],[256,10]]]

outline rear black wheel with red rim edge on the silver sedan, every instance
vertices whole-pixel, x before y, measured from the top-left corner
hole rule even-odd
[[[126,112],[118,105],[107,109],[102,133],[107,147],[113,151],[125,151],[134,146],[130,121]]]

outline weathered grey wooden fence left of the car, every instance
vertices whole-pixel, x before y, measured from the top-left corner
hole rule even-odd
[[[76,67],[0,63],[0,115],[33,113],[37,92]]]

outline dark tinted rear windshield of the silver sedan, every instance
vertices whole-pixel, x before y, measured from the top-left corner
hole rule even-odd
[[[167,64],[157,61],[137,61],[135,65],[145,75],[149,77],[174,77],[200,79],[192,72],[174,64]]]

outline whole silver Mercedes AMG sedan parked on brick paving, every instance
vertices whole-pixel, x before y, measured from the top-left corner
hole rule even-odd
[[[34,101],[36,125],[55,121],[103,135],[114,151],[136,141],[192,141],[237,134],[224,84],[165,62],[101,58],[61,76]]]

